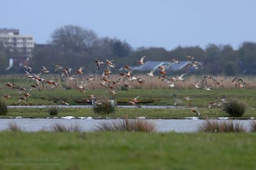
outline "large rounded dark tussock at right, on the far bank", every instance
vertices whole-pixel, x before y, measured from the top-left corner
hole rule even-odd
[[[223,111],[227,112],[231,117],[242,117],[247,106],[239,99],[229,99],[227,104],[224,104]]]

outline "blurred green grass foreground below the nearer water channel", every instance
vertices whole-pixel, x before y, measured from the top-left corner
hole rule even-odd
[[[253,133],[0,132],[0,138],[3,170],[256,167]]]

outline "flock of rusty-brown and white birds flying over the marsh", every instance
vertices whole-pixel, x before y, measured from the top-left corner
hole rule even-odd
[[[144,62],[145,57],[147,57],[147,55],[144,55],[143,57],[141,57],[141,59],[137,61],[137,64],[139,64],[139,65],[145,64],[145,62]],[[199,67],[200,69],[203,69],[202,63],[196,61],[195,57],[187,56],[186,60],[191,61],[190,62],[191,64],[189,64],[190,67]],[[106,59],[106,61],[104,61],[104,62],[100,61],[100,60],[95,60],[95,65],[96,65],[98,71],[100,71],[100,69],[102,67],[104,67],[104,69],[102,69],[103,70],[102,81],[99,83],[99,85],[104,87],[106,90],[108,90],[110,95],[115,96],[117,94],[116,91],[118,90],[118,88],[117,88],[118,86],[120,86],[120,87],[124,86],[124,87],[128,87],[128,88],[131,87],[131,84],[129,83],[130,81],[138,82],[141,85],[145,84],[146,81],[143,80],[143,78],[140,78],[138,76],[138,73],[133,74],[132,67],[127,66],[127,65],[122,67],[124,71],[122,71],[121,73],[118,73],[118,76],[119,76],[118,80],[114,80],[112,69],[116,69],[116,65],[113,62],[114,62],[114,60],[108,60],[108,59]],[[185,80],[184,76],[186,76],[186,74],[188,74],[188,73],[181,74],[180,76],[168,77],[168,73],[166,70],[168,68],[172,67],[173,64],[179,64],[179,60],[172,59],[169,64],[163,64],[162,66],[158,66],[156,69],[153,69],[152,71],[147,73],[147,75],[148,76],[158,76],[159,80],[166,83],[166,85],[168,85],[170,87],[175,87],[177,82]],[[61,73],[62,79],[65,78],[65,79],[73,80],[73,81],[76,81],[76,75],[84,74],[83,69],[86,68],[86,66],[84,66],[84,67],[80,67],[79,69],[72,69],[70,67],[63,67],[60,65],[55,65],[54,67],[55,67],[55,70],[54,70],[55,73]],[[45,87],[47,88],[48,85],[51,86],[52,90],[54,90],[59,86],[59,84],[54,80],[46,80],[45,78],[42,78],[42,74],[50,73],[49,69],[47,69],[44,66],[42,66],[42,70],[38,74],[33,73],[33,69],[29,66],[24,66],[24,71],[25,71],[26,77],[29,79],[29,81],[35,82],[29,87],[29,90],[27,90],[23,87],[16,88],[15,85],[10,82],[6,83],[7,87],[18,90],[18,92],[19,92],[18,103],[20,103],[21,101],[28,101],[28,98],[31,97],[31,92],[33,92],[33,90],[40,90]],[[224,81],[226,79],[227,78],[224,78],[223,80],[218,81],[218,80],[216,80],[216,78],[214,78],[212,76],[204,76],[203,78],[200,78],[200,80],[195,83],[194,87],[196,89],[205,89],[207,91],[211,91],[211,89],[213,87],[216,87],[216,86],[223,87]],[[94,80],[95,80],[95,76],[88,76],[86,78],[86,80],[79,81],[79,83],[77,83],[77,85],[76,85],[77,90],[79,90],[79,92],[86,93],[87,83],[89,83],[90,81],[94,81]],[[211,80],[214,83],[214,85],[213,86],[207,85],[207,82],[209,82],[208,80]],[[243,88],[244,86],[250,85],[250,83],[246,83],[241,78],[237,78],[237,77],[232,80],[232,83],[235,83],[236,88]],[[4,97],[6,99],[9,99],[11,96],[10,96],[10,94],[4,94]],[[138,104],[139,97],[140,96],[134,97],[134,99],[131,99],[130,101],[128,101],[128,103],[130,105],[141,108],[141,106]],[[82,99],[82,101],[92,102],[92,104],[94,106],[97,104],[102,104],[99,101],[99,99],[97,99],[93,94],[88,96],[88,98],[86,98],[86,99]],[[184,97],[184,101],[191,101],[191,98],[189,96]],[[65,101],[60,101],[60,102],[63,105],[70,106]],[[177,106],[177,104],[179,104],[179,103],[183,103],[183,101],[181,99],[175,99],[174,106]],[[211,109],[212,107],[215,107],[215,106],[220,107],[221,104],[223,104],[223,103],[228,103],[228,102],[224,97],[218,97],[216,99],[216,101],[209,103],[209,109]],[[192,111],[194,113],[196,113],[197,115],[200,115],[200,113],[198,111],[196,111],[195,109],[193,109]]]

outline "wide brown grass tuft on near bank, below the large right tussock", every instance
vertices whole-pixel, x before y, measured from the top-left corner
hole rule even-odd
[[[218,122],[217,120],[205,120],[198,127],[200,132],[245,132],[243,124],[234,124],[233,120]]]

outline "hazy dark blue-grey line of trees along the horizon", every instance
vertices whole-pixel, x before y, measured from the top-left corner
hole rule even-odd
[[[3,50],[2,50],[3,51]],[[119,67],[136,66],[136,61],[147,54],[147,60],[171,59],[185,60],[187,55],[195,56],[204,64],[204,74],[255,74],[256,43],[244,42],[238,50],[230,45],[209,44],[200,46],[178,46],[168,51],[164,48],[131,48],[127,42],[116,38],[99,38],[95,32],[76,25],[65,25],[52,32],[51,41],[46,45],[35,45],[30,66],[39,71],[42,66],[53,71],[55,64],[77,69],[88,66],[85,72],[100,73],[95,67],[94,60],[115,59]],[[0,66],[6,55],[0,52]],[[4,56],[4,57],[2,57]],[[5,62],[6,60],[4,60]],[[6,64],[4,64],[6,65]],[[5,67],[5,66],[4,66]],[[22,68],[13,67],[10,72]],[[1,66],[0,71],[4,69]],[[195,72],[196,73],[196,72]],[[200,71],[198,72],[200,73]]]

